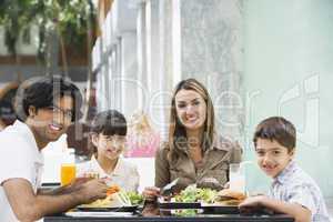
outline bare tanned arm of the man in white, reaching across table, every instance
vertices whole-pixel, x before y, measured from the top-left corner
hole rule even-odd
[[[37,221],[47,214],[67,211],[78,204],[105,196],[107,185],[100,180],[81,184],[68,194],[34,194],[26,179],[10,179],[2,183],[9,203],[19,221]]]

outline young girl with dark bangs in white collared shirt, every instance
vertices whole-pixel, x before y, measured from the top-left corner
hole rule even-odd
[[[137,191],[137,167],[120,158],[127,141],[127,121],[117,110],[100,112],[92,121],[91,141],[94,153],[89,162],[78,165],[78,174],[98,174],[124,191]]]

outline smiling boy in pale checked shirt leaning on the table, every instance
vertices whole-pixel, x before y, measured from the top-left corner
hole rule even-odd
[[[248,198],[241,210],[265,206],[292,215],[295,222],[330,222],[320,188],[294,161],[296,130],[287,120],[263,120],[253,138],[259,167],[273,183],[269,196]]]

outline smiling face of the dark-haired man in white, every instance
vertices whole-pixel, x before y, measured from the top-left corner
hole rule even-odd
[[[73,99],[69,95],[56,99],[49,108],[29,109],[30,127],[40,145],[57,141],[71,124],[73,114]]]

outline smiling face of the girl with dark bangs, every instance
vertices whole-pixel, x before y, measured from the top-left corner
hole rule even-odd
[[[92,143],[97,147],[98,157],[117,160],[124,150],[125,135],[104,135],[102,133],[92,135]]]

